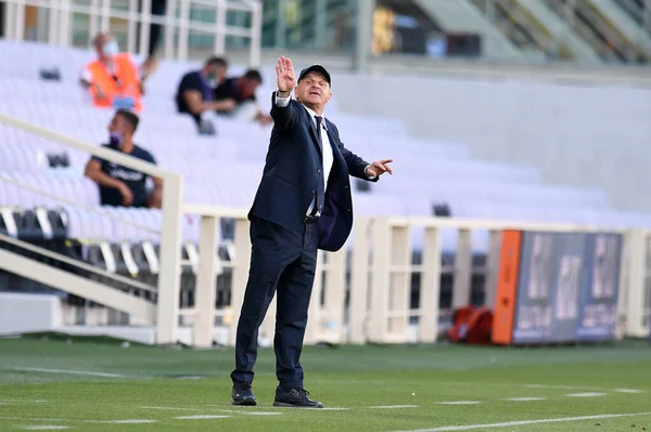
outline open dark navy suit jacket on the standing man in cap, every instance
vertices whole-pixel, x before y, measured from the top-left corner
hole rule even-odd
[[[279,107],[276,93],[271,95],[271,105],[275,125],[267,162],[248,218],[265,219],[292,230],[301,226],[316,196],[323,161],[317,128],[305,107],[294,100],[286,107]],[[344,246],[353,227],[349,175],[369,180],[365,173],[369,163],[344,147],[339,130],[328,119],[326,128],[334,160],[318,220],[319,248],[336,251]]]

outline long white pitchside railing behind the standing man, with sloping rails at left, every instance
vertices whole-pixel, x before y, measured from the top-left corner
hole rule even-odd
[[[251,243],[245,209],[183,205],[183,180],[180,175],[146,162],[135,160],[67,136],[50,132],[24,121],[0,115],[0,122],[58,141],[66,146],[114,161],[150,175],[162,178],[163,225],[161,230],[161,263],[156,287],[156,301],[120,292],[101,282],[92,282],[53,269],[17,253],[0,250],[0,267],[21,276],[33,278],[56,289],[86,297],[111,307],[139,315],[155,323],[155,341],[159,344],[178,341],[181,317],[190,318],[192,344],[209,346],[216,340],[216,328],[226,331],[226,343],[233,344],[239,313],[248,277]],[[201,218],[197,278],[193,307],[181,307],[180,269],[181,218],[194,214]],[[218,223],[221,219],[235,223],[233,250],[228,262],[221,262],[218,250]],[[423,231],[418,247],[421,259],[413,260],[413,232]],[[473,272],[472,238],[476,231],[487,233],[484,304],[496,302],[497,273],[500,265],[500,238],[508,230],[527,230],[553,233],[617,233],[624,236],[620,264],[617,298],[617,336],[646,337],[649,335],[651,315],[651,231],[613,230],[575,224],[523,223],[519,221],[463,220],[442,218],[357,218],[354,237],[348,247],[335,253],[319,252],[315,289],[309,306],[306,343],[432,343],[439,335],[438,323],[441,280],[444,273],[442,238],[445,231],[455,231],[457,244],[454,261],[451,307],[471,301]],[[46,257],[56,256],[25,241],[0,237],[0,240],[27,248]],[[119,239],[123,240],[123,239]],[[206,253],[206,251],[208,251]],[[349,259],[348,259],[349,258]],[[71,262],[72,263],[72,262]],[[72,263],[74,264],[74,263]],[[111,272],[86,271],[110,276]],[[219,266],[232,273],[230,303],[215,307],[216,278]],[[411,304],[414,278],[418,275],[418,305]],[[349,280],[348,280],[349,276]],[[118,278],[120,282],[122,278]],[[135,288],[142,288],[140,284]],[[216,326],[216,320],[220,322]],[[272,339],[275,303],[261,325],[260,337]]]

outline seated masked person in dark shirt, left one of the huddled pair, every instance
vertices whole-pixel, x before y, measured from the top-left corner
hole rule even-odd
[[[213,91],[226,77],[228,63],[221,57],[208,58],[204,67],[183,76],[176,94],[177,112],[192,116],[202,128],[202,116],[215,110],[228,112],[237,106],[234,100],[215,102]]]

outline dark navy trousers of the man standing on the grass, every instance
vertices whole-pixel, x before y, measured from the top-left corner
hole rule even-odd
[[[281,388],[302,389],[299,358],[317,266],[319,227],[314,222],[305,222],[288,230],[253,219],[251,241],[251,267],[238,322],[235,369],[231,379],[253,381],[258,328],[276,292],[276,376]]]

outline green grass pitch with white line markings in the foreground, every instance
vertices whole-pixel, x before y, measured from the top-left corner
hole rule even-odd
[[[651,430],[651,346],[307,346],[326,410],[273,408],[260,351],[256,407],[230,405],[233,352],[111,339],[0,339],[0,431]],[[337,409],[334,409],[337,408]]]

